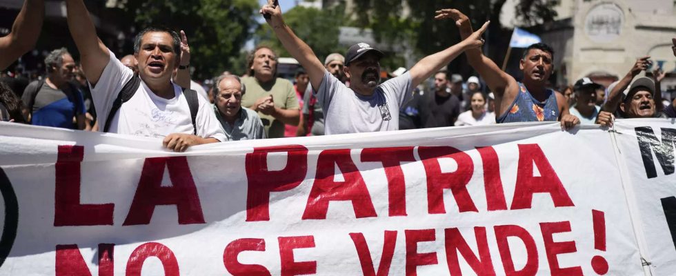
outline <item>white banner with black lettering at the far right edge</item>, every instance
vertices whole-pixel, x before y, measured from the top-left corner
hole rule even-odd
[[[631,119],[616,124],[617,144],[626,162],[627,192],[644,258],[653,275],[676,271],[676,125],[666,119]]]

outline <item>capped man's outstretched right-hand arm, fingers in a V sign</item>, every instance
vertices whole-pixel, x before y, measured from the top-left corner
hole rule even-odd
[[[418,63],[415,63],[415,66],[409,71],[412,79],[412,86],[418,86],[418,84],[439,71],[442,67],[446,66],[450,61],[453,61],[453,59],[463,51],[481,48],[481,46],[484,45],[484,39],[481,39],[481,34],[484,34],[489,23],[490,21],[484,23],[484,26],[481,26],[481,29],[477,30],[463,41],[460,41],[460,43],[450,46],[446,48],[446,50],[437,52],[436,54],[428,55],[418,61]]]

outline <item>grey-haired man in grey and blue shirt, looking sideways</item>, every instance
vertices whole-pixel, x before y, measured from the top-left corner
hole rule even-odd
[[[45,58],[47,77],[33,81],[23,91],[23,110],[30,124],[54,128],[86,128],[87,112],[82,93],[70,83],[75,77],[75,61],[66,50],[53,50]],[[77,125],[73,126],[75,117]]]

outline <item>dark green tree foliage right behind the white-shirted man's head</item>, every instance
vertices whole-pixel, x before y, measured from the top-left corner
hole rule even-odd
[[[232,70],[250,38],[259,9],[256,0],[144,0],[128,1],[136,31],[148,26],[184,30],[190,44],[193,79],[208,79]]]

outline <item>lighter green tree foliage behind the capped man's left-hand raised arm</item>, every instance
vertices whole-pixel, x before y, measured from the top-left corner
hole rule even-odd
[[[339,27],[347,22],[343,8],[343,6],[338,6],[318,10],[295,6],[284,12],[284,22],[300,39],[308,43],[308,46],[315,51],[315,55],[323,61],[322,58],[332,52],[345,52],[346,50],[338,44]],[[263,43],[270,46],[280,57],[290,57],[267,23],[261,24],[256,35],[257,44]]]

